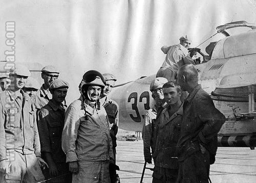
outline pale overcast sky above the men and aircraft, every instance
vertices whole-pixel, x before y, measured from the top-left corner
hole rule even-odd
[[[113,73],[118,84],[155,74],[165,57],[161,46],[187,35],[193,47],[215,34],[218,25],[256,23],[255,6],[253,0],[2,1],[0,58],[10,49],[5,23],[15,21],[15,62],[56,65],[71,85],[72,101],[87,70]]]

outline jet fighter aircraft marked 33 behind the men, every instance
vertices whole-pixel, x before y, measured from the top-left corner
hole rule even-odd
[[[248,27],[250,31],[230,36],[228,29]],[[218,134],[218,145],[256,146],[256,25],[245,21],[217,27],[226,37],[206,47],[208,56],[196,65],[202,88],[211,95],[226,122]],[[208,49],[208,50],[207,50]],[[155,74],[116,86],[110,94],[120,108],[119,128],[141,131],[145,111],[153,105],[149,91]]]

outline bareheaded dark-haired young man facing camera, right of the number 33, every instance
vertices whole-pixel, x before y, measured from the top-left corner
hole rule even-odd
[[[153,183],[175,183],[178,177],[177,142],[182,122],[181,88],[175,82],[163,85],[167,107],[159,114]]]

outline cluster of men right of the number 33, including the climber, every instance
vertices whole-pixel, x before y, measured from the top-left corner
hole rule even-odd
[[[145,162],[154,160],[153,183],[208,183],[215,162],[225,116],[198,83],[189,45],[185,36],[162,47],[166,58],[150,86],[155,107],[145,114],[142,137]]]

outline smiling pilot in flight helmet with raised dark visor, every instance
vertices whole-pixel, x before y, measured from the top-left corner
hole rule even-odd
[[[79,85],[81,96],[67,109],[62,133],[73,183],[110,183],[109,165],[114,163],[109,121],[99,98],[105,86],[101,73],[90,70]]]

